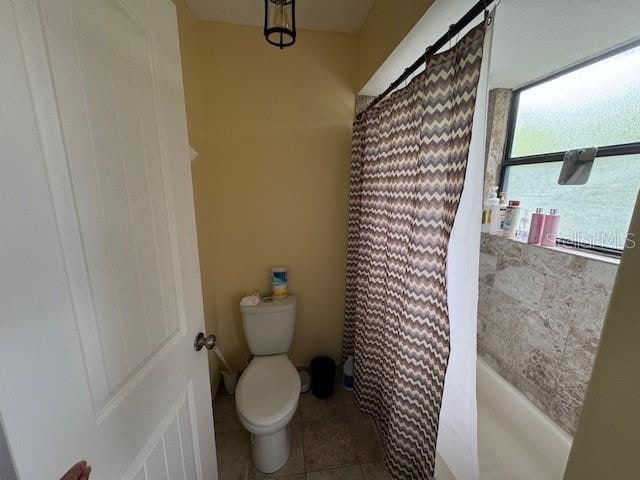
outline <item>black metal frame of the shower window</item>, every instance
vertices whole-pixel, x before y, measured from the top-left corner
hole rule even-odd
[[[503,191],[507,169],[509,167],[513,167],[517,165],[531,165],[535,163],[562,162],[564,160],[564,155],[566,153],[566,151],[564,151],[564,152],[540,153],[536,155],[526,155],[522,157],[511,156],[511,152],[513,149],[513,137],[515,134],[516,121],[518,119],[518,106],[520,103],[520,93],[530,88],[536,87],[541,83],[546,83],[550,80],[554,80],[555,78],[561,77],[575,70],[579,70],[581,68],[587,67],[593,63],[597,63],[606,58],[613,57],[614,55],[622,53],[626,50],[631,50],[632,48],[637,46],[640,46],[640,41],[635,41],[635,42],[628,43],[626,45],[622,45],[620,47],[609,50],[605,53],[592,57],[583,62],[579,62],[575,65],[571,65],[570,67],[563,68],[562,70],[558,70],[557,72],[552,73],[551,75],[547,75],[546,77],[542,77],[538,80],[535,80],[531,83],[527,83],[522,87],[519,87],[513,90],[513,93],[511,95],[511,106],[509,107],[509,117],[507,120],[507,136],[505,139],[504,156],[502,159],[502,163],[500,165],[500,182],[498,184],[500,187],[499,191]],[[584,147],[593,147],[593,146],[594,145],[585,145]],[[612,157],[612,156],[619,156],[619,155],[633,155],[633,154],[640,154],[640,141],[632,142],[632,143],[621,143],[616,145],[599,146],[598,153],[596,154],[596,158]],[[595,253],[604,254],[604,255],[613,256],[613,257],[620,257],[622,255],[621,249],[576,242],[569,239],[558,238],[557,244],[563,247],[586,250],[586,251],[595,252]]]

